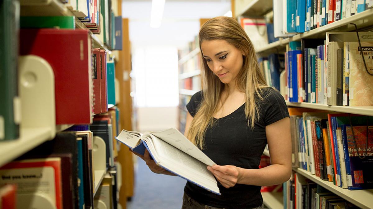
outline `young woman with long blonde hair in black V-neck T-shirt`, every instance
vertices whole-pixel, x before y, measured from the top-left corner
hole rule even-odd
[[[185,135],[217,165],[207,167],[221,196],[186,183],[183,209],[261,208],[261,186],[291,175],[289,113],[280,93],[268,87],[253,44],[230,17],[215,17],[200,29],[203,90],[186,105]],[[268,144],[271,165],[258,169]],[[154,173],[172,175],[141,156]]]

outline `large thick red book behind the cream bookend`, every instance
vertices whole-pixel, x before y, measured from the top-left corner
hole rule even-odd
[[[92,123],[88,30],[21,29],[20,54],[42,57],[53,68],[56,124]]]

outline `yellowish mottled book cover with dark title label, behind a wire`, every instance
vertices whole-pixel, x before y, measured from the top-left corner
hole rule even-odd
[[[373,74],[373,42],[346,42],[350,48],[350,106],[373,105],[373,76],[364,67],[363,52],[367,70]]]

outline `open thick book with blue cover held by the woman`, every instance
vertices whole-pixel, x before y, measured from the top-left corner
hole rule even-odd
[[[207,165],[215,165],[177,129],[141,134],[123,130],[116,139],[132,151],[144,155],[147,149],[157,165],[183,179],[220,195],[219,187]]]

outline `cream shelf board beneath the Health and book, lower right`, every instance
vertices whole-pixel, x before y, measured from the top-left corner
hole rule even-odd
[[[325,189],[333,192],[334,194],[342,197],[343,199],[351,202],[352,204],[363,208],[373,208],[373,189],[369,190],[348,190],[342,189],[342,187],[335,186],[333,182],[325,181],[316,177],[315,175],[311,174],[308,171],[302,170],[300,168],[293,168],[298,174],[310,179],[311,181],[319,184],[320,186],[324,187]]]

